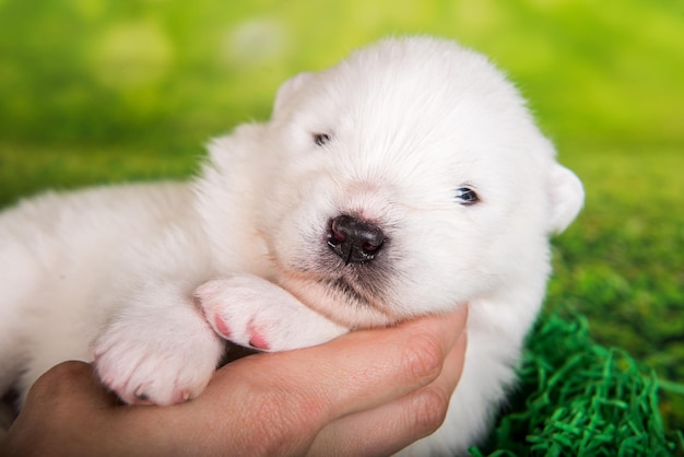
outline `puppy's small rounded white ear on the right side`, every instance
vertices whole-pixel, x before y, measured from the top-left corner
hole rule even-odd
[[[549,174],[549,195],[551,201],[549,232],[561,233],[582,208],[585,189],[575,173],[554,163]]]

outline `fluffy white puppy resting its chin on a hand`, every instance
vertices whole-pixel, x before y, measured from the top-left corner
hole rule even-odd
[[[191,184],[0,215],[0,389],[95,360],[123,400],[169,405],[202,391],[219,335],[280,351],[470,304],[448,417],[406,452],[482,438],[542,302],[549,235],[583,199],[514,86],[451,42],[387,39],[287,81],[269,122],[210,152]]]

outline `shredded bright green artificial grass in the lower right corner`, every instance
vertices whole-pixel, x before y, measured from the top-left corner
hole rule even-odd
[[[684,386],[682,386],[684,387]],[[583,317],[546,316],[528,339],[520,385],[475,457],[670,456],[656,373],[621,349],[597,344]]]

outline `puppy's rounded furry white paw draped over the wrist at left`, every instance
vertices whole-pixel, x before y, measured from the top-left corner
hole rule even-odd
[[[93,353],[102,382],[123,401],[172,405],[204,389],[223,347],[189,293],[157,284],[119,309]]]

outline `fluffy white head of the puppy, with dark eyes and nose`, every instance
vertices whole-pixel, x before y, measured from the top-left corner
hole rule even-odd
[[[295,77],[267,136],[279,281],[351,327],[506,294],[536,306],[547,236],[583,199],[512,85],[446,40],[388,39]]]

